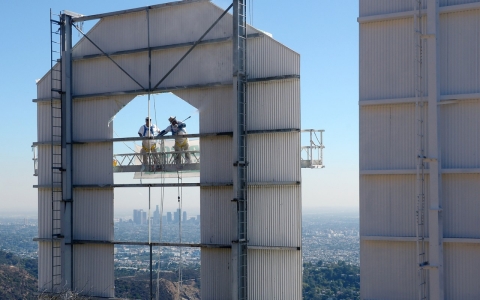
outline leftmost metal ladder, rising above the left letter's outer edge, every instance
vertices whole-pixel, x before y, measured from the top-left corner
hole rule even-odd
[[[59,20],[54,20],[54,17]],[[52,281],[51,292],[59,292],[62,282],[62,32],[60,15],[50,10],[50,113],[51,113],[51,191],[52,191]]]

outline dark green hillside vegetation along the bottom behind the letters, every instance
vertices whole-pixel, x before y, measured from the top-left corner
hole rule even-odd
[[[0,299],[37,299],[37,260],[22,259],[0,251]],[[360,268],[345,262],[324,264],[304,263],[303,299],[340,300],[360,299]],[[148,299],[150,274],[133,270],[115,270],[115,296],[122,299]],[[185,267],[182,274],[182,299],[200,299],[200,268]],[[153,277],[156,282],[156,275]],[[159,281],[160,299],[176,299],[177,273],[164,271]],[[153,288],[156,293],[156,286]],[[46,299],[46,298],[43,298]],[[81,298],[77,298],[81,299]]]

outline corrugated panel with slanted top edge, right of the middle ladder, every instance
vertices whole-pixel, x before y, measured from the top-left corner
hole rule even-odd
[[[300,75],[300,55],[269,36],[247,43],[249,78]]]

